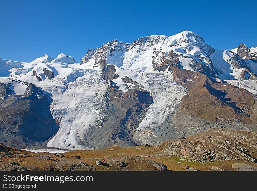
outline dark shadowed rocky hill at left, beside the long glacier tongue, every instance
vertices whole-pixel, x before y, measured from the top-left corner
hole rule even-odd
[[[44,142],[58,130],[51,115],[47,96],[34,84],[28,84],[24,95],[10,93],[0,83],[0,142],[13,147],[27,147]]]

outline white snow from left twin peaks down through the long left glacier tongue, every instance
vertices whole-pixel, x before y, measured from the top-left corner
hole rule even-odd
[[[44,55],[31,63],[8,60],[3,63],[12,63],[11,69],[4,66],[2,68],[8,69],[5,74],[15,79],[0,78],[0,82],[9,83],[13,94],[24,94],[27,86],[20,80],[33,83],[50,94],[51,113],[60,129],[47,146],[60,149],[92,149],[81,146],[81,142],[86,142],[85,134],[91,126],[106,120],[105,100],[109,87],[98,68],[80,65],[71,56],[63,53],[56,59]],[[43,69],[53,72],[54,77],[49,80]],[[42,81],[37,80],[33,75],[34,71]]]

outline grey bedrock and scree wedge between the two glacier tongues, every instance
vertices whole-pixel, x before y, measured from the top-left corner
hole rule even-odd
[[[110,82],[111,83],[111,82]],[[152,103],[148,92],[129,90],[122,92],[110,86],[107,95],[108,116],[104,124],[89,128],[85,134],[84,146],[93,148],[110,147],[119,145],[131,147],[140,144],[133,139],[132,132],[136,131],[138,124],[144,118],[145,110]]]

